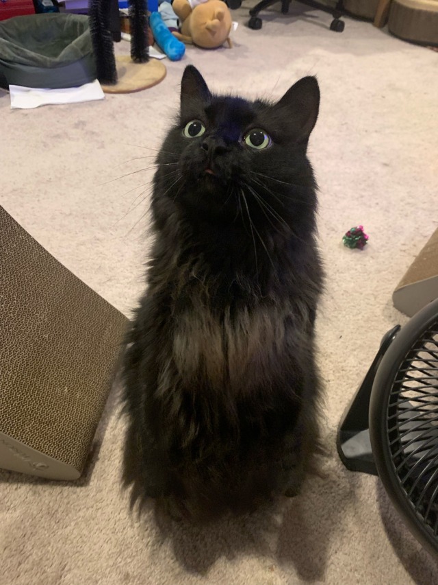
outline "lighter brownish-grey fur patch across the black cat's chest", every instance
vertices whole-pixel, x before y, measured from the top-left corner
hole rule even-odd
[[[263,383],[254,372],[272,369],[285,335],[282,313],[273,306],[241,307],[231,315],[229,307],[217,313],[205,305],[178,313],[172,320],[172,357],[181,378],[188,383],[204,378],[212,389],[228,385],[236,393]]]

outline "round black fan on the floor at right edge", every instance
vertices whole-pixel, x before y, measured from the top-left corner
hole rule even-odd
[[[438,555],[438,299],[381,348],[339,425],[350,470],[379,475],[411,532]]]

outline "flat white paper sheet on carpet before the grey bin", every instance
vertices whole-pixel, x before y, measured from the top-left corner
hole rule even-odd
[[[103,99],[105,97],[98,80],[86,83],[80,87],[61,89],[42,89],[24,87],[21,85],[10,85],[9,91],[12,110],[16,108],[28,110],[30,108],[38,108],[38,106],[45,106],[47,104],[78,104],[80,102],[93,102],[96,99]]]

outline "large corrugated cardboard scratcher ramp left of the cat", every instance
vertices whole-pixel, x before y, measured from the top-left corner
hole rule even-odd
[[[77,479],[127,318],[0,206],[0,468]]]

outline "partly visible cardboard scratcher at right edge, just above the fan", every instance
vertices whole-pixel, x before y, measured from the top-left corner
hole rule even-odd
[[[415,258],[392,295],[394,307],[409,317],[438,298],[438,229]]]

